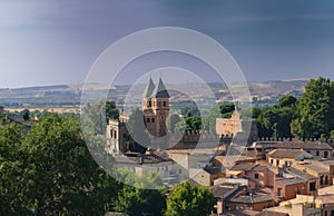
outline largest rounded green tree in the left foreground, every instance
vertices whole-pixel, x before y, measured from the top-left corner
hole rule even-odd
[[[89,154],[79,118],[49,115],[33,126],[23,145],[30,183],[24,189],[38,214],[104,214],[104,198],[97,198],[104,171]]]

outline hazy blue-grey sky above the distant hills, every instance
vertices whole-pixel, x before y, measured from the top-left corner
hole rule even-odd
[[[334,80],[331,0],[0,0],[0,88],[82,84],[110,45],[154,27],[183,27],[214,38],[247,81]],[[177,53],[144,57],[117,84],[134,82],[138,71],[191,61]],[[206,66],[196,68],[205,75]],[[216,80],[208,75],[208,81]]]

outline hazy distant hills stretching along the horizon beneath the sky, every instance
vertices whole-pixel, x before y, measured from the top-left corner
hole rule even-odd
[[[294,79],[283,81],[248,82],[250,96],[255,106],[274,104],[284,95],[291,94],[301,97],[308,79]],[[200,88],[198,85],[188,84],[189,88]],[[237,84],[234,84],[237,85]],[[217,101],[230,101],[232,96],[228,88],[223,84],[208,84],[216,96]],[[122,104],[131,86],[108,87],[99,84],[86,85],[86,90],[94,98],[100,91],[108,91],[108,99]],[[141,88],[141,87],[140,87]],[[143,86],[144,88],[144,86]],[[84,85],[58,85],[45,87],[27,87],[14,89],[0,89],[0,105],[8,108],[59,108],[79,107]],[[178,92],[170,91],[174,97]],[[196,97],[196,96],[191,96]],[[177,100],[185,100],[175,97]]]

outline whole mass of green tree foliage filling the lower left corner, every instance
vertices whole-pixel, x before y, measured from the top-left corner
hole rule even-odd
[[[1,215],[104,215],[116,181],[92,160],[79,118],[45,116],[24,135],[0,127]]]

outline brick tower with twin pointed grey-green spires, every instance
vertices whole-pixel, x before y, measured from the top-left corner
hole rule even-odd
[[[146,128],[153,136],[163,137],[168,131],[166,119],[169,115],[169,98],[163,79],[155,86],[150,78],[144,91],[143,112]]]

